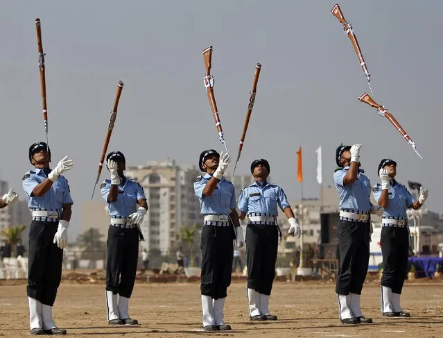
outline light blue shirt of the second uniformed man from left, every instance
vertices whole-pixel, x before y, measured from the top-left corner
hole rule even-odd
[[[100,186],[101,196],[107,202],[107,195],[110,194],[111,180],[104,180]],[[137,212],[137,201],[146,199],[143,187],[132,178],[124,178],[117,187],[119,194],[117,200],[107,203],[108,214],[112,216],[129,217]]]

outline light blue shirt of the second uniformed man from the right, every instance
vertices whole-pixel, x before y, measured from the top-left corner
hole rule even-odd
[[[349,166],[336,170],[333,174],[333,181],[336,183],[338,196],[340,198],[340,209],[350,209],[361,212],[371,210],[371,182],[363,174],[363,169],[358,169],[357,179],[351,185],[344,185],[343,179]]]

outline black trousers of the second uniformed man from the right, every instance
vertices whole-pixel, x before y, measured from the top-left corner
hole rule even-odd
[[[338,268],[336,293],[361,294],[370,257],[370,223],[356,221],[338,222]]]

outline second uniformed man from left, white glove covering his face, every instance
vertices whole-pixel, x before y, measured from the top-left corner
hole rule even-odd
[[[128,309],[137,273],[139,226],[148,204],[141,185],[123,174],[126,169],[123,153],[107,154],[106,165],[111,179],[102,183],[101,194],[111,217],[107,231],[107,321],[111,325],[137,325],[139,322],[130,317]]]

